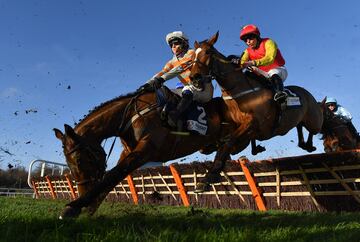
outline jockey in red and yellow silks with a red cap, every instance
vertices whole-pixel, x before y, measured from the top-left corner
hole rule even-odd
[[[287,94],[284,92],[283,82],[287,78],[285,60],[275,41],[270,38],[261,38],[259,28],[253,24],[245,25],[240,32],[240,39],[248,48],[240,59],[242,68],[250,68],[257,73],[268,77],[275,87],[274,100],[283,102]],[[257,68],[260,71],[256,71]]]

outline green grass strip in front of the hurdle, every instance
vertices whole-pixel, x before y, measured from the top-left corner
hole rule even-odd
[[[105,202],[58,220],[66,201],[0,198],[0,241],[360,241],[360,213],[254,212]]]

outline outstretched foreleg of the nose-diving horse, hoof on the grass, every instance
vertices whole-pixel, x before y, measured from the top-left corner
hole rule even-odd
[[[83,196],[67,204],[60,218],[77,217],[81,208],[88,207],[97,203],[98,199],[102,201],[105,196],[128,174],[139,168],[149,160],[152,153],[149,142],[139,142],[137,147],[130,152],[123,160],[108,171],[103,179],[94,185],[94,187]],[[104,197],[103,197],[104,196]]]

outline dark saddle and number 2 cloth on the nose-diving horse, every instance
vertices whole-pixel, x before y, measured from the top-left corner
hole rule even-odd
[[[157,89],[155,93],[162,125],[169,129],[173,129],[168,124],[167,116],[171,110],[176,108],[181,97],[166,86]],[[193,101],[184,115],[181,116],[181,119],[183,121],[183,127],[180,131],[185,130],[191,134],[206,135],[208,130],[207,114],[202,104]]]

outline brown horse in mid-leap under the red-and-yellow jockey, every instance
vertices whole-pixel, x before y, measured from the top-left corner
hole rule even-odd
[[[198,83],[215,79],[221,87],[225,102],[225,120],[237,124],[231,138],[218,150],[213,168],[199,183],[201,192],[213,180],[219,180],[219,173],[232,150],[245,149],[250,141],[267,140],[277,135],[285,135],[296,127],[298,146],[308,152],[314,151],[313,135],[321,130],[323,115],[315,98],[304,88],[288,86],[297,94],[301,106],[282,110],[273,100],[273,91],[259,78],[246,76],[227,58],[215,49],[219,32],[202,42],[195,41],[195,59],[191,67],[190,78]],[[279,116],[281,113],[281,116]],[[303,127],[309,131],[304,141]]]

